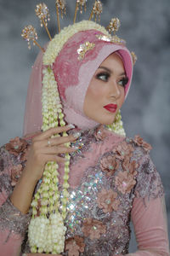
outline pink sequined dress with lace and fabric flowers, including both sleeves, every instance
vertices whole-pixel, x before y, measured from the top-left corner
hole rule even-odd
[[[30,253],[31,218],[10,202],[9,195],[26,164],[31,138],[16,137],[1,148],[0,255]],[[70,198],[65,219],[68,256],[168,256],[164,192],[150,145],[140,137],[120,137],[103,126],[82,131],[72,147]],[[59,166],[62,184],[63,166]],[[37,186],[39,186],[37,183]],[[62,189],[61,196],[62,196]],[[128,253],[130,220],[138,251]],[[21,253],[20,253],[21,250]]]

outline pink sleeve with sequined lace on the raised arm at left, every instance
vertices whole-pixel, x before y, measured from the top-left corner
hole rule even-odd
[[[5,256],[18,256],[30,216],[22,214],[8,198],[13,191],[14,181],[19,178],[19,173],[15,171],[23,164],[19,155],[11,155],[5,147],[0,148],[0,252]],[[12,177],[14,174],[15,180]]]

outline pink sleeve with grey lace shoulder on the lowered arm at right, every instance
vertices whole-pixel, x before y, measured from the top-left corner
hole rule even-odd
[[[161,178],[149,154],[140,160],[139,168],[131,212],[138,251],[126,255],[170,256]]]

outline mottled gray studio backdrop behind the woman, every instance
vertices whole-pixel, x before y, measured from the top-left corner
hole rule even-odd
[[[73,20],[75,0],[67,0],[66,26]],[[169,0],[108,0],[101,23],[108,25],[117,16],[122,27],[117,34],[126,39],[127,47],[138,55],[130,94],[122,108],[127,135],[140,134],[151,143],[151,151],[166,192],[170,230],[170,1]],[[0,144],[22,135],[26,90],[31,66],[38,49],[27,49],[20,38],[21,29],[32,23],[40,35],[40,44],[48,36],[40,29],[34,15],[37,0],[0,0]],[[54,0],[44,1],[51,11],[49,30],[56,32]],[[88,1],[94,3],[94,1]],[[88,9],[89,13],[89,9]],[[80,16],[80,15],[79,15]],[[88,17],[82,15],[82,17]],[[69,20],[70,19],[70,20]],[[131,251],[135,248],[134,238]]]

